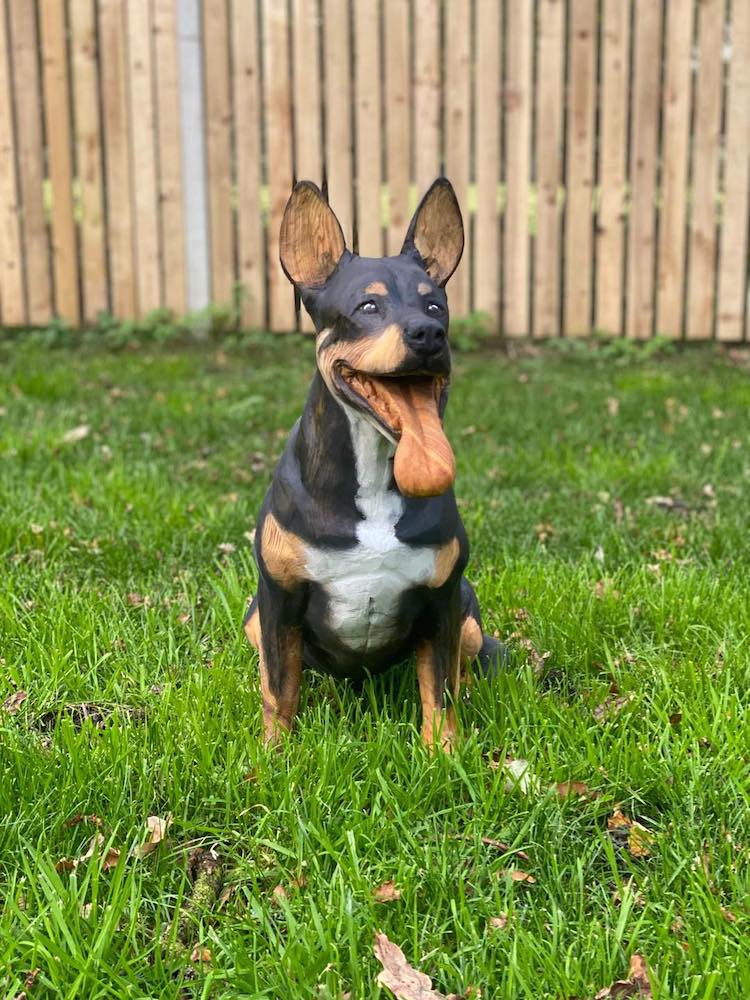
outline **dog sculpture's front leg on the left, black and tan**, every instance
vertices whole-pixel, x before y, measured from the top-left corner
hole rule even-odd
[[[289,593],[262,577],[258,587],[257,647],[265,742],[292,728],[302,683],[301,591]],[[252,638],[251,638],[251,641]]]

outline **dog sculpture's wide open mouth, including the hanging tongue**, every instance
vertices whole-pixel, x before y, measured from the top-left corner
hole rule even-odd
[[[456,478],[456,461],[440,419],[447,386],[443,375],[409,372],[370,375],[347,365],[335,367],[342,396],[369,413],[396,442],[393,474],[404,496],[445,493]]]

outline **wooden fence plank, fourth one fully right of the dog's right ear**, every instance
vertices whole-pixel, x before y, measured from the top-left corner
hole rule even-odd
[[[576,337],[591,331],[596,21],[596,0],[571,0],[563,301],[565,333]]]

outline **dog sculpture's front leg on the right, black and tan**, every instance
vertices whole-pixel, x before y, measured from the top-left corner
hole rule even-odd
[[[460,678],[460,591],[451,587],[430,604],[417,644],[417,680],[422,701],[422,739],[451,751],[456,738],[453,701]]]

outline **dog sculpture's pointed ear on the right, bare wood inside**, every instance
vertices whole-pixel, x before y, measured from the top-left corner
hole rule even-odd
[[[444,285],[464,252],[464,224],[453,185],[444,177],[433,182],[419,203],[401,253],[419,256],[437,285]]]

